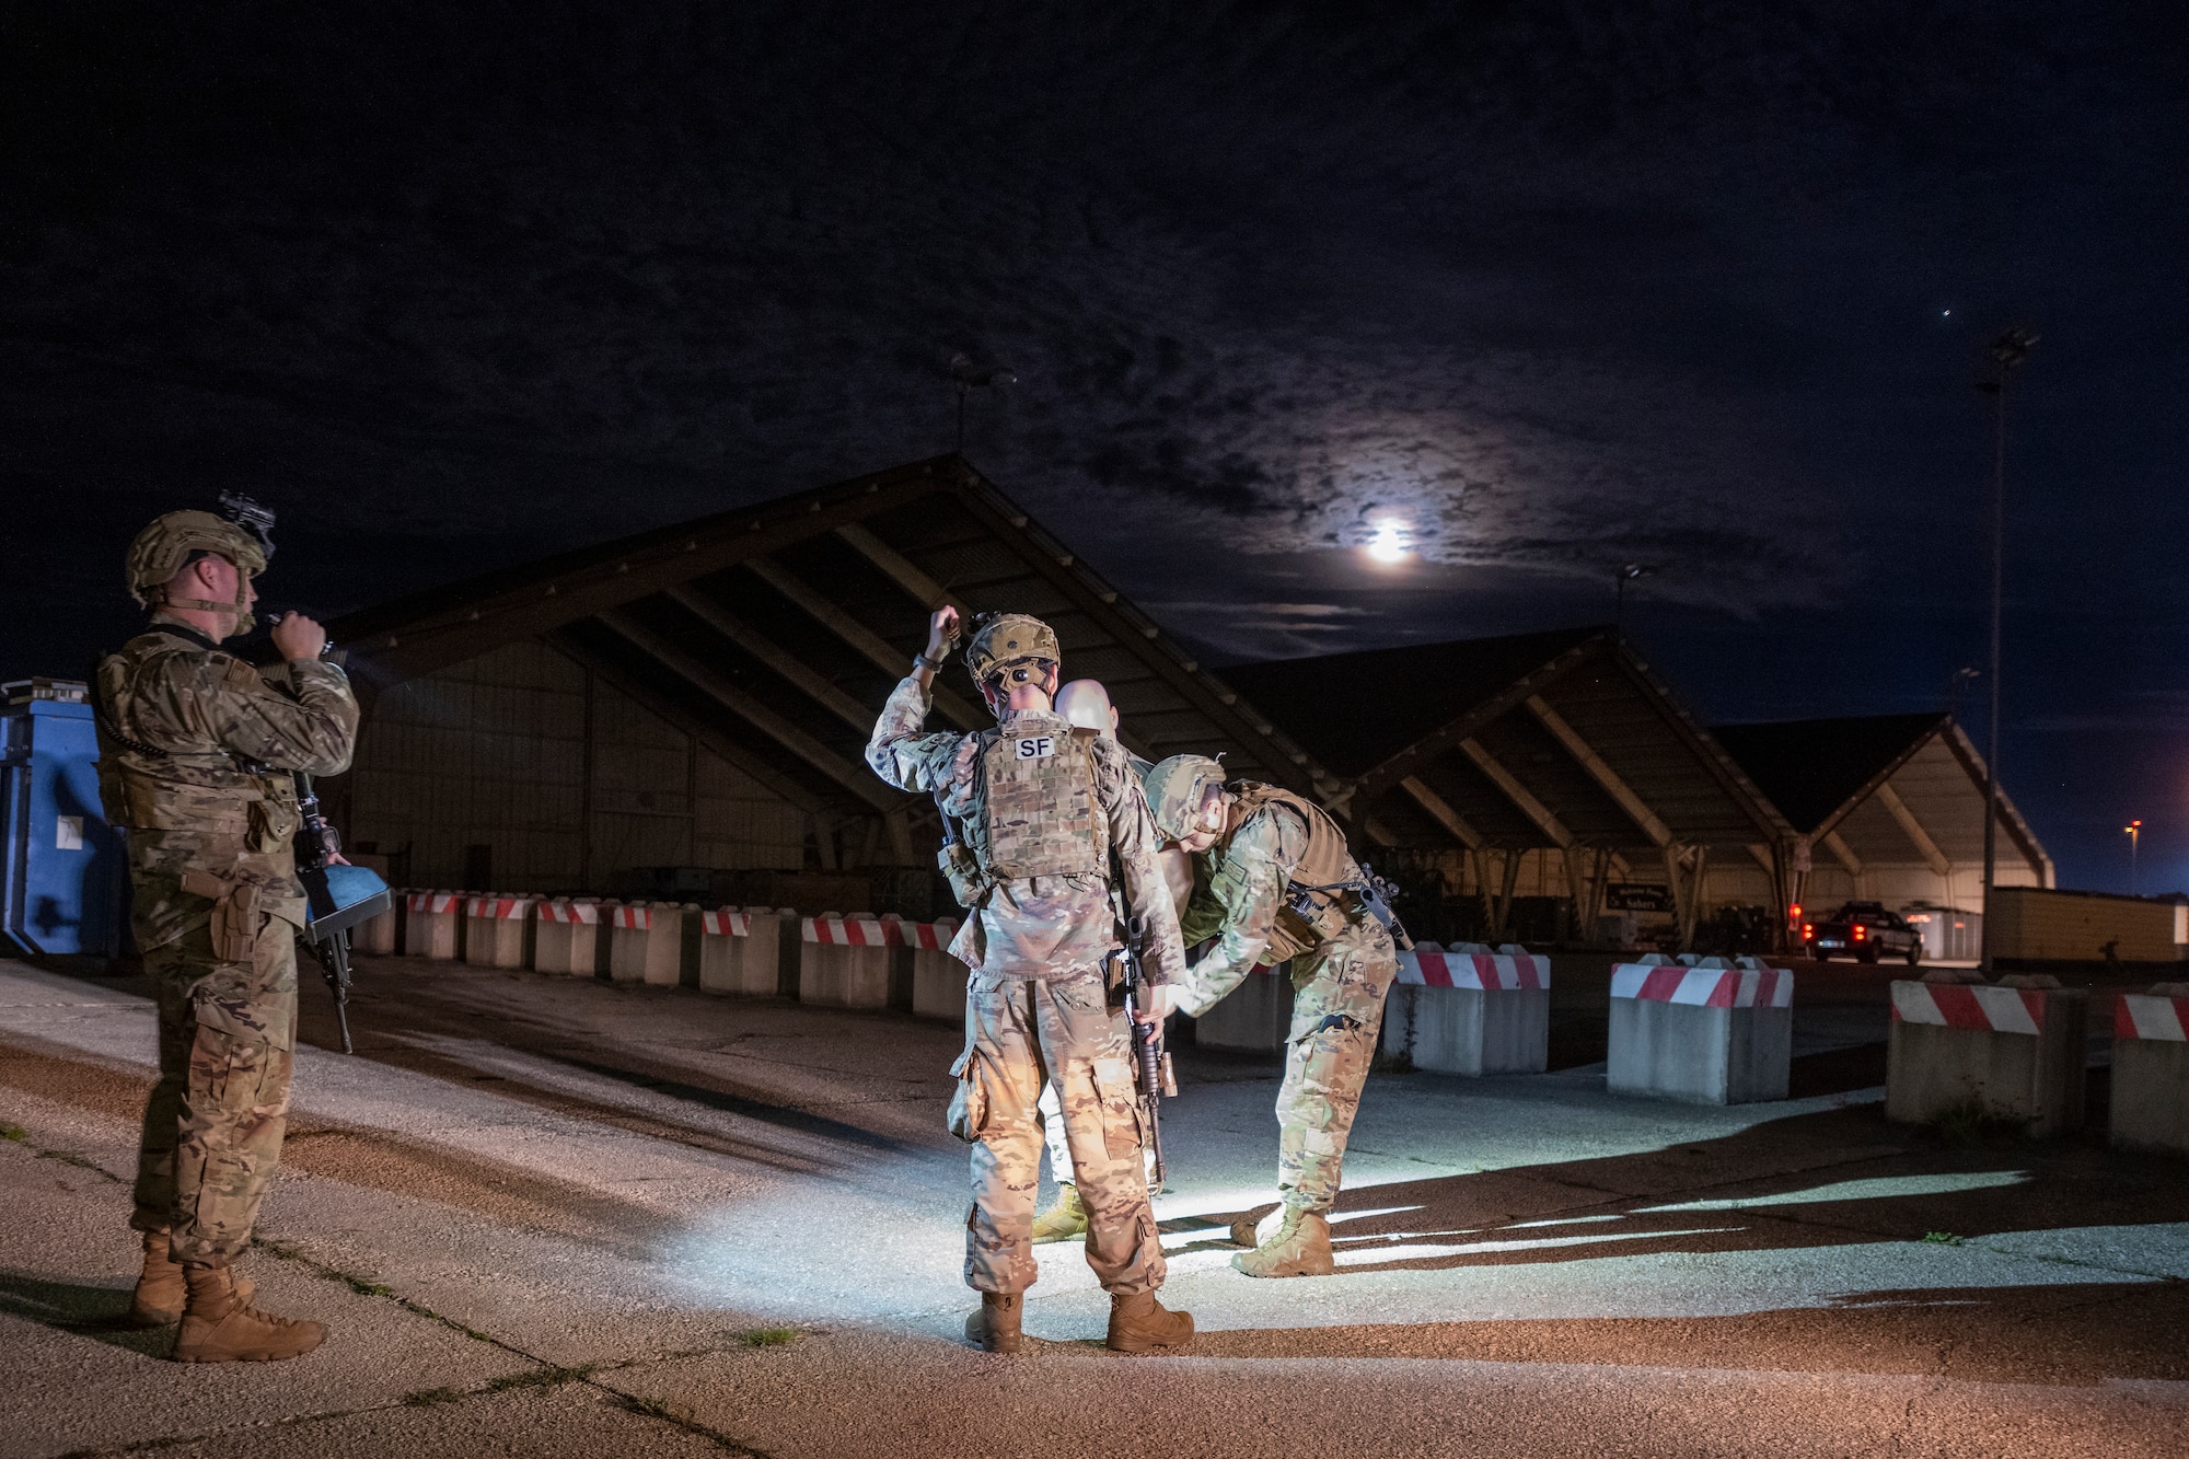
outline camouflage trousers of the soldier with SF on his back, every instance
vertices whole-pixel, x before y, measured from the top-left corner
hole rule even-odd
[[[965,1286],[1022,1293],[1033,1262],[1033,1198],[1042,1181],[1042,1084],[1055,1080],[1079,1200],[1088,1211],[1088,1266],[1108,1293],[1162,1286],[1162,1240],[1140,1168],[1132,1034],[1108,1006],[1103,977],[965,984],[965,1054],[950,1102],[950,1133],[972,1141]]]

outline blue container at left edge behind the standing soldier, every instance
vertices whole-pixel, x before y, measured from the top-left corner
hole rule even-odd
[[[99,806],[99,736],[83,686],[4,686],[0,712],[0,946],[123,951],[129,868]]]

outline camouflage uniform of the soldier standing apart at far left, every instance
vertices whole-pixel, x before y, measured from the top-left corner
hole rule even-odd
[[[96,699],[101,797],[127,828],[160,1003],[129,1225],[223,1266],[250,1244],[289,1111],[304,924],[289,771],[348,769],[357,699],[333,664],[258,670],[169,613],[99,664]]]

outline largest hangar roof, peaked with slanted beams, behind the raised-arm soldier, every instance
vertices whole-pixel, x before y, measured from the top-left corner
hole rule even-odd
[[[862,749],[943,602],[1049,620],[1064,673],[1110,688],[1140,754],[1224,751],[1241,773],[1331,789],[1305,749],[959,456],[488,572],[328,631],[368,697],[543,640],[792,800],[873,813],[911,802]],[[937,688],[930,725],[994,723],[961,664]]]

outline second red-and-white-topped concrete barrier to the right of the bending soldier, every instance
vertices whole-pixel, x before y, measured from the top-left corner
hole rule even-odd
[[[1740,962],[1686,966],[1653,953],[1611,968],[1605,1089],[1694,1104],[1784,1100],[1793,973]]]

